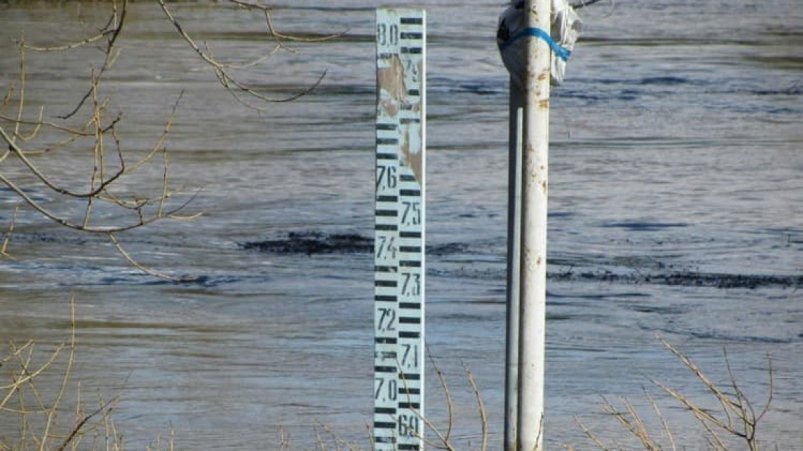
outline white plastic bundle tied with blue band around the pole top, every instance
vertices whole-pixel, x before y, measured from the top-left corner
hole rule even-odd
[[[566,61],[574,50],[582,28],[583,22],[567,0],[552,0],[551,35],[538,28],[527,28],[524,0],[515,0],[499,17],[496,43],[513,81],[524,89],[524,73],[527,67],[524,38],[534,36],[543,39],[552,49],[551,81],[553,84],[560,84],[566,74]]]

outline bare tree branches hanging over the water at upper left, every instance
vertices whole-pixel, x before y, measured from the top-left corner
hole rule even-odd
[[[212,68],[220,84],[238,102],[249,108],[261,109],[258,105],[252,105],[248,101],[249,99],[263,102],[290,102],[308,94],[321,83],[326,71],[323,71],[309,87],[295,94],[274,98],[242,83],[233,76],[230,70],[253,67],[266,61],[280,50],[295,52],[296,50],[290,48],[288,43],[324,42],[335,39],[341,34],[312,37],[286,34],[277,29],[270,7],[243,0],[229,1],[237,8],[260,12],[264,16],[265,33],[274,41],[273,48],[267,54],[246,64],[221,63],[206,43],[199,45],[185,31],[164,0],[159,0],[159,5],[164,16],[176,29],[181,39],[204,63]],[[118,43],[128,23],[129,2],[128,0],[112,0],[110,8],[108,18],[102,26],[78,40],[62,44],[47,43],[46,45],[33,44],[22,39],[17,41],[19,79],[8,84],[5,95],[0,101],[0,149],[2,149],[0,150],[0,185],[8,188],[12,196],[19,198],[22,204],[26,204],[46,220],[71,230],[106,235],[118,253],[137,269],[156,277],[178,280],[136,262],[122,246],[119,239],[121,237],[118,237],[118,234],[163,219],[189,220],[201,214],[183,214],[185,207],[192,202],[200,190],[186,192],[187,190],[182,189],[184,191],[181,196],[183,202],[176,205],[177,202],[174,201],[174,198],[177,197],[177,193],[170,186],[172,172],[170,154],[167,151],[167,139],[184,92],[181,91],[173,103],[161,134],[153,147],[146,149],[146,153],[138,161],[127,164],[118,136],[118,128],[123,126],[122,113],[114,114],[108,111],[111,97],[104,94],[105,89],[102,89],[101,85],[103,84],[105,87],[104,81],[108,78],[108,74],[120,55]],[[35,108],[34,116],[34,108],[29,105],[26,92],[27,52],[70,52],[92,45],[97,45],[102,52],[102,62],[92,68],[89,76],[89,88],[77,105],[65,115],[55,116],[60,120],[46,117],[44,105]],[[14,111],[15,109],[16,111]],[[29,109],[30,113],[26,109]],[[82,122],[67,121],[78,115],[79,112],[82,115],[86,114],[85,120],[82,119]],[[87,179],[81,181],[81,185],[88,182],[88,187],[78,187],[75,180],[66,182],[59,180],[58,174],[48,170],[44,162],[38,159],[55,150],[79,148],[91,153],[91,163],[86,162]],[[110,156],[109,152],[116,153],[116,155]],[[125,183],[122,182],[123,180],[130,180],[129,176],[144,168],[146,164],[159,164],[153,162],[154,157],[159,154],[161,154],[161,183],[158,188],[152,187],[154,192],[142,195],[116,188]],[[21,175],[3,170],[10,167],[12,163],[19,163],[19,168],[22,168],[23,171]],[[34,180],[32,184],[23,182],[23,180],[27,180],[27,176],[31,176]],[[155,192],[156,189],[158,192]],[[46,194],[52,194],[54,203],[48,203],[49,199],[44,200],[47,199],[46,196],[39,196],[40,190]],[[115,216],[113,219],[101,221],[99,219],[101,212],[105,213],[108,208],[112,209]],[[0,240],[0,256],[10,258],[9,243],[17,225],[15,207],[14,217]],[[19,227],[16,229],[19,233]]]

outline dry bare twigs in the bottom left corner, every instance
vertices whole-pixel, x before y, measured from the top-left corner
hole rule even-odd
[[[119,397],[87,394],[73,377],[75,301],[70,305],[70,336],[64,343],[12,341],[0,351],[0,451],[125,449],[124,433],[112,416]],[[10,435],[12,431],[16,434]],[[172,435],[157,437],[146,447],[173,449]]]

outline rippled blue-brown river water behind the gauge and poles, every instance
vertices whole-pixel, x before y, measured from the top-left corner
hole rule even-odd
[[[283,31],[342,37],[288,44],[298,53],[280,51],[237,73],[273,95],[303,89],[324,70],[326,77],[310,95],[261,112],[216,84],[158,5],[131,5],[103,94],[123,112],[120,137],[137,156],[156,143],[184,91],[167,142],[170,180],[183,193],[175,202],[202,189],[187,212],[203,216],[120,239],[142,263],[192,282],[145,276],[102,237],[49,224],[27,207],[18,214],[8,249],[14,258],[0,260],[0,341],[36,338],[47,348],[66,340],[74,296],[74,375],[85,396],[121,396],[115,418],[133,449],[171,428],[183,449],[276,449],[280,427],[296,449],[310,449],[315,424],[368,443],[373,275],[362,238],[373,235],[372,32],[380,2],[320,3],[293,1],[274,20]],[[463,363],[487,408],[491,449],[501,447],[507,76],[494,43],[500,3],[423,2],[427,337],[455,397],[460,449],[478,447],[480,435]],[[172,8],[226,62],[272,48],[259,14],[223,3]],[[0,2],[0,87],[19,73],[12,38],[77,39],[100,27],[106,12],[95,2]],[[582,41],[552,100],[548,448],[591,446],[575,418],[627,447],[600,395],[627,397],[654,424],[645,388],[676,440],[701,446],[700,428],[649,379],[716,406],[658,333],[721,383],[726,347],[759,405],[769,354],[773,409],[759,435],[768,446],[803,449],[799,0],[633,0],[582,13]],[[69,112],[101,58],[94,48],[28,52],[27,117],[35,119],[38,105],[51,120]],[[32,146],[57,139],[42,133]],[[88,180],[91,155],[80,143],[35,158],[57,180]],[[157,161],[123,188],[158,194],[161,171]],[[64,204],[16,162],[0,163],[0,174],[80,218],[81,205]],[[0,229],[18,203],[0,186]],[[343,234],[356,236],[336,239]],[[445,425],[431,369],[427,387],[428,414]],[[0,433],[9,425],[0,421]]]

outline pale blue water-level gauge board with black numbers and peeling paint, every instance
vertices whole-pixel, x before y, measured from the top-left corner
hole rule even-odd
[[[424,435],[425,12],[376,13],[374,450]]]

